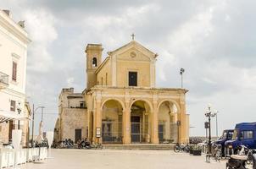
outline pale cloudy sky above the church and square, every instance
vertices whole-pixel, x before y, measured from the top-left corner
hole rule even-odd
[[[218,112],[219,135],[236,123],[255,122],[256,1],[253,0],[1,0],[16,21],[25,20],[28,49],[26,94],[46,106],[53,130],[62,88],[86,88],[85,47],[107,52],[136,41],[159,54],[157,87],[180,87],[190,134],[204,135],[209,104]],[[36,123],[40,112],[36,112]],[[215,131],[213,119],[213,135]]]

